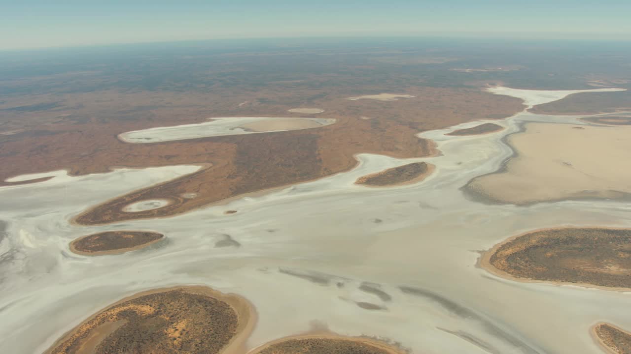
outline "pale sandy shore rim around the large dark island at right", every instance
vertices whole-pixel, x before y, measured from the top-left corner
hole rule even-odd
[[[521,234],[517,234],[515,236],[510,236],[507,239],[504,239],[504,241],[500,241],[499,243],[496,243],[495,245],[493,245],[492,248],[488,249],[487,251],[482,251],[481,252],[481,256],[478,258],[478,262],[476,263],[476,266],[478,268],[482,268],[484,270],[487,270],[488,272],[492,273],[493,275],[497,275],[500,278],[505,278],[507,280],[513,280],[515,282],[520,282],[520,283],[546,283],[546,284],[551,284],[551,285],[557,285],[557,286],[563,286],[563,285],[575,285],[577,287],[583,287],[583,288],[596,288],[596,289],[600,289],[600,290],[610,290],[610,291],[615,291],[615,292],[631,292],[631,288],[620,288],[620,287],[604,287],[602,285],[594,285],[591,283],[581,283],[581,282],[558,282],[558,281],[552,281],[552,280],[538,280],[535,278],[521,278],[521,277],[515,277],[514,275],[511,275],[503,270],[499,270],[497,268],[495,268],[495,266],[493,266],[490,263],[490,258],[491,256],[493,256],[493,254],[495,254],[495,252],[502,246],[504,246],[504,244],[510,243],[510,241],[513,241],[514,239],[517,239],[518,237],[521,236],[526,236],[527,234],[532,234],[533,232],[541,232],[541,231],[548,231],[548,230],[560,230],[560,229],[612,229],[612,230],[628,230],[628,227],[603,227],[603,226],[588,226],[588,227],[581,227],[581,226],[567,226],[567,227],[545,227],[543,229],[535,229],[535,230],[530,230],[530,231],[526,231],[526,232],[522,232]]]

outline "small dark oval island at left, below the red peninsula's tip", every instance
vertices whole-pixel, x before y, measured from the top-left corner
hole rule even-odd
[[[88,256],[119,254],[144,248],[162,237],[163,234],[151,231],[105,231],[79,237],[70,243],[70,250]]]

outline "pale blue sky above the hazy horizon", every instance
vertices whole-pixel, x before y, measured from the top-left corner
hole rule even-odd
[[[215,38],[631,38],[631,0],[0,0],[0,49]]]

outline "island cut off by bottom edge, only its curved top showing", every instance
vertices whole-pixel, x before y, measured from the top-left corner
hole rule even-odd
[[[365,337],[342,337],[332,334],[292,336],[271,341],[249,354],[403,354],[381,341]]]

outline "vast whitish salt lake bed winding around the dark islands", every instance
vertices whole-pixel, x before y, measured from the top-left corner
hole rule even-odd
[[[126,295],[203,284],[256,305],[254,347],[307,331],[382,336],[415,353],[598,353],[589,331],[631,328],[629,294],[519,283],[476,267],[478,251],[531,229],[631,227],[631,206],[610,200],[492,205],[459,188],[512,154],[502,142],[524,122],[579,122],[521,113],[497,134],[449,137],[473,123],[424,132],[442,156],[360,154],[348,173],[187,214],[81,227],[68,220],[129,190],[192,173],[172,166],[0,188],[7,222],[0,243],[0,346],[39,353],[85,317]],[[416,161],[436,166],[422,183],[365,188],[358,177]],[[225,209],[239,210],[226,216]],[[151,229],[168,243],[115,256],[76,256],[76,237]],[[216,247],[227,235],[240,247]],[[379,292],[366,291],[377,288]],[[386,294],[386,295],[384,295]],[[379,305],[368,310],[358,302]],[[560,305],[562,304],[562,305]]]

